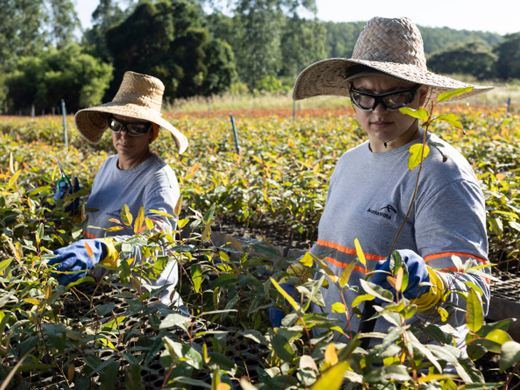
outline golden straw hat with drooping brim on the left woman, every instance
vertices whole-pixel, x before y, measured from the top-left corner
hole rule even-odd
[[[112,114],[148,120],[172,133],[177,149],[182,153],[188,146],[186,137],[161,115],[164,92],[165,85],[158,78],[125,72],[118,93],[111,102],[76,112],[76,127],[88,142],[98,144],[103,132],[108,129],[108,117]]]

